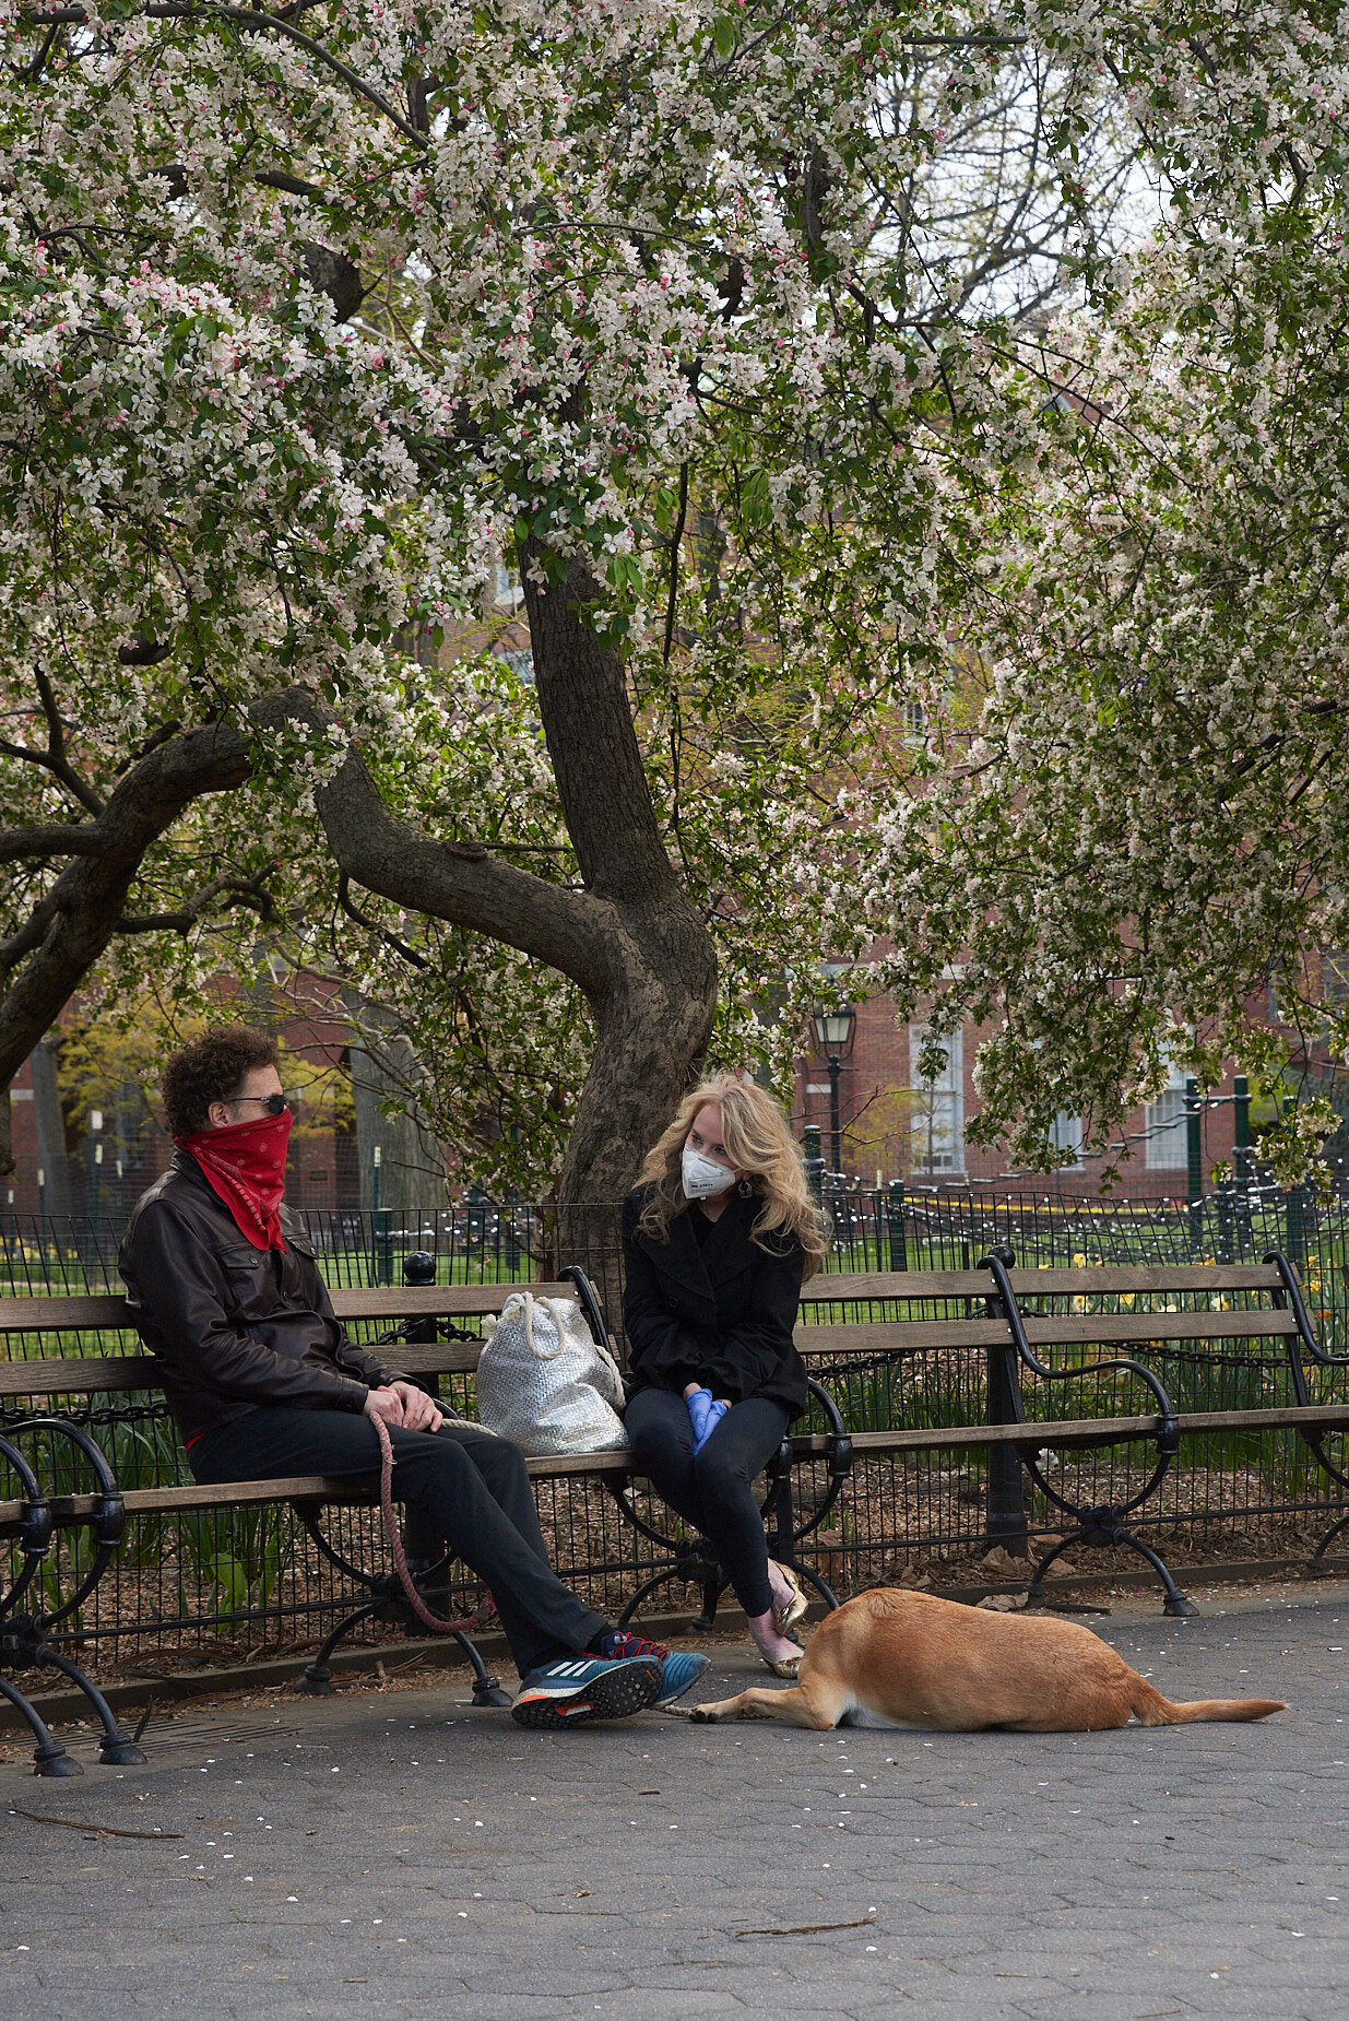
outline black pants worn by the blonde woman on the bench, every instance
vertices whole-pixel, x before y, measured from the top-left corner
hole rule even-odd
[[[697,1455],[689,1405],[674,1390],[638,1390],[624,1423],[638,1471],[648,1473],[670,1508],[715,1544],[745,1613],[767,1613],[773,1589],[753,1479],[792,1423],[784,1405],[765,1397],[733,1405]]]

